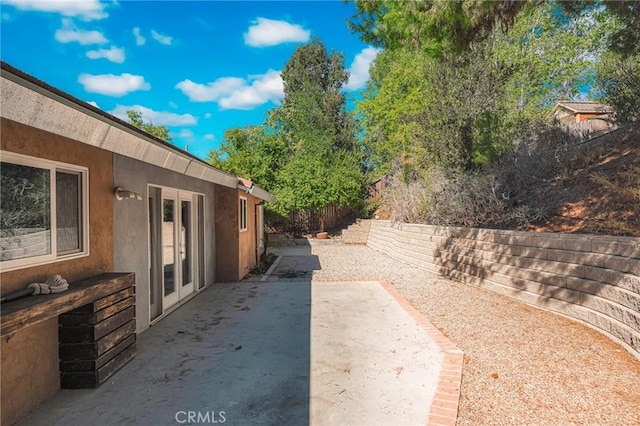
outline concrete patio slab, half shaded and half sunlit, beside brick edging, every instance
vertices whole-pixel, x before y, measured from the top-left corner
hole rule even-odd
[[[443,362],[378,282],[215,284],[137,346],[100,388],[20,424],[424,425]]]

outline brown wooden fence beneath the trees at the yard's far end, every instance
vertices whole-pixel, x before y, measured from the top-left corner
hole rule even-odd
[[[279,232],[304,234],[320,231],[322,214],[324,214],[326,230],[350,223],[355,217],[356,210],[330,204],[324,208],[323,212],[291,212],[288,217],[266,214],[265,222],[268,227]]]

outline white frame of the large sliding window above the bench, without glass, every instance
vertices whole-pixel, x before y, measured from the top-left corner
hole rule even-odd
[[[13,271],[33,266],[46,265],[50,263],[62,262],[71,259],[89,256],[89,169],[75,164],[63,163],[60,161],[47,160],[32,157],[14,152],[0,151],[0,161],[21,166],[34,167],[49,170],[49,218],[50,218],[50,241],[51,253],[26,257],[20,259],[0,260],[0,272]],[[57,213],[56,213],[56,173],[77,173],[80,177],[81,185],[78,197],[80,198],[80,250],[58,253],[57,247]]]

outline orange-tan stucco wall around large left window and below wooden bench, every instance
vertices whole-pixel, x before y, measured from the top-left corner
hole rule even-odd
[[[69,282],[113,270],[113,160],[108,151],[33,129],[0,122],[4,151],[46,158],[89,169],[90,255],[64,262],[0,273],[6,294],[60,274]],[[2,424],[11,424],[60,389],[56,318],[2,339]]]

